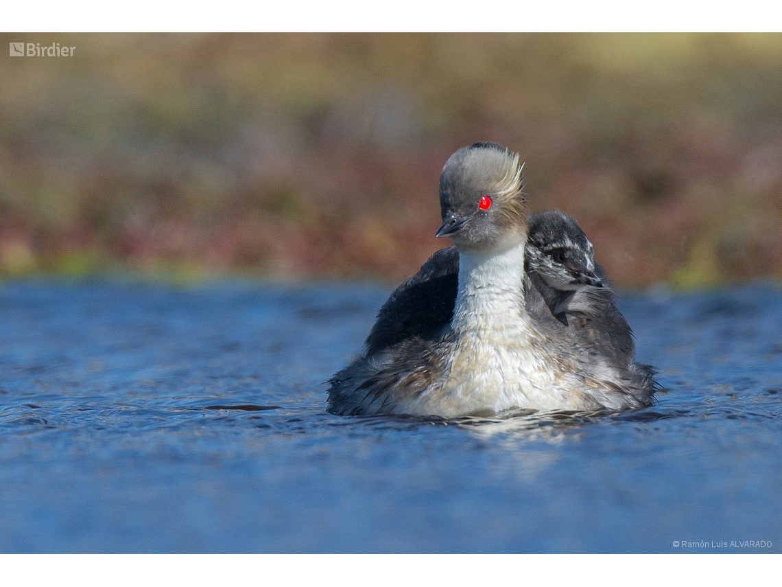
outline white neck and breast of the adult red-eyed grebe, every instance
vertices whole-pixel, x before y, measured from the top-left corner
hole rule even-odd
[[[524,243],[493,255],[460,254],[443,380],[411,413],[459,416],[513,408],[580,409],[569,369],[557,364],[524,301]]]

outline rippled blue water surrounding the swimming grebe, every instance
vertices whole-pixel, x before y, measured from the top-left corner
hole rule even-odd
[[[649,409],[332,416],[387,294],[0,284],[0,552],[782,552],[778,286],[622,297]]]

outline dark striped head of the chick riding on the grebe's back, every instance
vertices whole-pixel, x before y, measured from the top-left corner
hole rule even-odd
[[[594,249],[576,220],[558,210],[530,214],[527,270],[556,290],[603,287],[595,272]]]

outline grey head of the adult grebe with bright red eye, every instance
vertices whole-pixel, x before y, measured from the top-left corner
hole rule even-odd
[[[439,180],[443,224],[462,251],[504,250],[526,239],[526,202],[518,154],[493,142],[462,147]]]

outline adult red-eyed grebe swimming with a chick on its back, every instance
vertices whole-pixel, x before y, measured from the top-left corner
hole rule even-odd
[[[493,143],[459,149],[443,167],[439,194],[443,224],[436,236],[449,236],[458,251],[451,315],[440,325],[448,303],[434,296],[433,308],[431,299],[414,308],[412,316],[429,318],[409,330],[386,337],[374,328],[364,353],[330,380],[329,411],[463,416],[644,405],[626,389],[626,373],[579,346],[526,277],[518,155]],[[398,288],[381,314],[393,315],[397,294],[446,290],[453,275],[440,261],[453,256],[447,251]],[[544,314],[528,311],[527,293],[535,312],[546,308]]]

